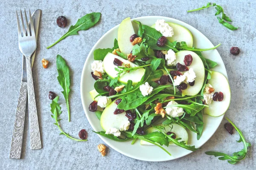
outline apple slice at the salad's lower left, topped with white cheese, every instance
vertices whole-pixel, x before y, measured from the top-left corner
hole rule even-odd
[[[116,108],[117,105],[114,100],[102,112],[102,116],[100,118],[100,125],[102,126],[103,130],[106,131],[111,127],[119,129],[120,126],[124,125],[128,121],[128,118],[125,116],[125,111],[120,114],[114,114]]]

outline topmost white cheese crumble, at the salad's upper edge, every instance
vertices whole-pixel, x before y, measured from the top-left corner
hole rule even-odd
[[[165,20],[157,20],[155,29],[163,34],[165,37],[172,37],[174,35],[173,28],[169,26]]]

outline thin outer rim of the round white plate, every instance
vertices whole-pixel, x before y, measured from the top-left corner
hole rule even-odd
[[[196,31],[198,31],[198,32],[199,32],[202,36],[204,36],[207,40],[209,40],[203,33],[201,33],[201,31],[199,31],[199,30],[196,29],[195,27],[189,25],[188,23],[185,23],[185,22],[183,22],[183,21],[180,21],[180,20],[177,20],[177,19],[171,18],[171,17],[164,17],[164,16],[156,16],[156,15],[154,15],[154,16],[136,17],[136,18],[131,19],[131,21],[133,21],[133,20],[145,19],[145,18],[151,18],[151,17],[153,17],[153,18],[154,18],[154,17],[157,17],[157,18],[161,18],[161,19],[169,19],[169,20],[173,20],[172,22],[177,23],[177,24],[182,23],[183,25],[188,25],[188,26],[192,27],[193,29],[195,29]],[[93,122],[91,122],[90,118],[87,116],[87,114],[88,114],[88,113],[87,113],[87,112],[88,112],[88,111],[87,111],[88,108],[87,108],[87,106],[84,105],[84,103],[85,103],[84,100],[85,100],[85,99],[83,99],[83,88],[82,88],[82,84],[83,84],[83,82],[84,82],[84,81],[83,81],[83,78],[84,78],[84,74],[85,74],[85,68],[86,68],[86,66],[88,65],[87,62],[88,62],[89,56],[91,56],[91,55],[93,54],[93,51],[94,51],[93,49],[94,49],[94,48],[101,42],[101,40],[102,40],[105,36],[107,36],[112,30],[118,28],[119,25],[120,25],[120,24],[118,24],[118,25],[114,26],[113,28],[111,28],[110,30],[108,30],[108,31],[107,31],[102,37],[100,37],[99,40],[93,45],[93,47],[91,48],[89,54],[88,54],[87,57],[86,57],[86,60],[85,60],[85,62],[84,62],[84,67],[83,67],[83,69],[82,69],[81,80],[80,80],[81,102],[82,102],[82,106],[83,106],[83,109],[84,109],[85,116],[86,116],[88,122],[90,123],[91,127],[93,128],[93,130],[96,130],[96,127],[94,127]],[[186,27],[186,26],[184,26],[184,27]],[[211,46],[214,47],[214,45],[212,44],[212,42],[211,42],[210,40],[209,40],[209,42],[210,42]],[[209,47],[209,48],[210,48],[210,47]],[[216,50],[217,53],[219,54],[218,50],[217,50],[217,49],[215,49],[215,50]],[[222,57],[221,57],[220,54],[219,54],[219,56],[220,56],[221,62],[224,64],[223,59],[222,59]],[[225,77],[227,78],[227,80],[228,80],[227,69],[226,69],[226,67],[225,67],[225,64],[224,64],[224,70],[225,70],[225,71],[224,71],[224,72],[225,72],[225,75],[224,75],[224,76],[225,76]],[[227,112],[227,111],[226,111],[226,112]],[[221,124],[221,122],[222,122],[222,120],[223,120],[224,115],[226,114],[226,112],[225,112],[223,115],[218,116],[218,117],[222,117],[221,120],[220,120],[220,122],[219,122],[219,124],[218,124],[218,127],[220,126],[220,124]],[[218,129],[218,127],[215,129],[215,131],[212,133],[212,135],[209,136],[209,139],[211,139],[211,137],[216,133],[216,130]],[[108,141],[106,141],[104,136],[101,136],[101,135],[99,135],[99,134],[97,134],[97,135],[98,135],[106,144],[108,144],[111,148],[113,148],[113,149],[116,150],[117,152],[119,152],[119,153],[121,153],[121,154],[123,154],[123,155],[125,155],[125,156],[131,157],[131,158],[133,158],[133,159],[137,159],[137,160],[141,160],[141,161],[149,161],[149,160],[142,159],[142,158],[140,159],[140,158],[135,157],[135,156],[133,156],[133,155],[131,155],[131,154],[129,154],[129,153],[125,153],[125,152],[123,152],[122,150],[116,148],[113,144],[111,144],[111,143],[109,143]],[[205,142],[203,142],[203,144],[201,144],[200,147],[202,147],[206,142],[208,142],[209,139],[207,139]],[[184,154],[184,155],[182,155],[182,156],[178,156],[178,157],[173,158],[173,159],[172,159],[172,157],[169,157],[169,159],[150,160],[150,161],[151,161],[151,162],[171,161],[171,160],[179,159],[179,158],[181,158],[181,157],[183,157],[183,156],[187,156],[187,155],[189,155],[189,154],[192,153],[192,152],[193,152],[193,151],[190,151],[190,150],[189,150],[188,153],[186,153],[186,154]]]

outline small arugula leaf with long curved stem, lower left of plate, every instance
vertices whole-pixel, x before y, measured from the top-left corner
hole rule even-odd
[[[51,112],[52,112],[52,115],[51,115],[51,116],[52,116],[53,119],[55,119],[54,125],[58,126],[58,129],[61,131],[60,134],[61,134],[61,135],[65,135],[65,136],[67,136],[68,138],[73,139],[73,140],[75,140],[75,141],[87,141],[87,139],[82,140],[82,139],[73,138],[73,137],[71,137],[68,133],[65,133],[65,132],[61,129],[60,125],[58,124],[58,122],[59,122],[61,119],[58,119],[58,116],[61,115],[61,112],[62,112],[62,111],[61,111],[60,104],[58,104],[58,99],[59,99],[59,96],[56,96],[55,99],[52,100],[52,103],[50,104],[50,106],[51,106]]]

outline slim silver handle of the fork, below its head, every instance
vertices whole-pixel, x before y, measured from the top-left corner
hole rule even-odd
[[[35,102],[35,91],[31,69],[30,56],[26,56],[27,82],[28,82],[28,104],[29,104],[29,131],[30,131],[30,149],[40,149],[41,137],[38,124],[38,114]]]

